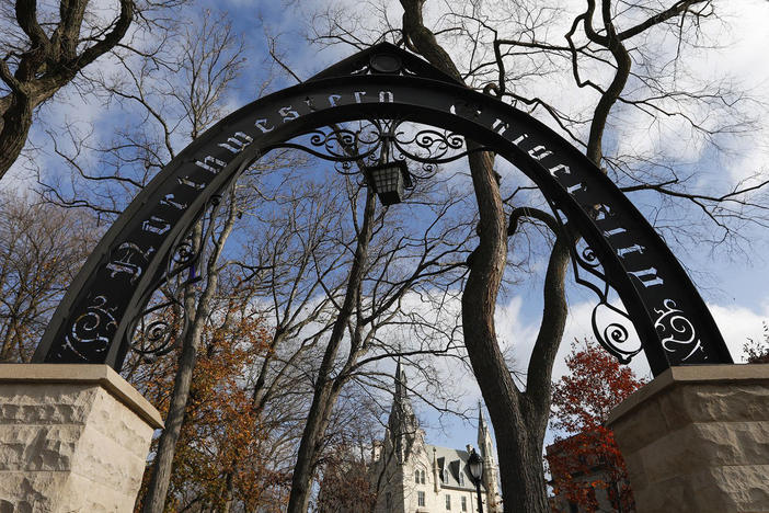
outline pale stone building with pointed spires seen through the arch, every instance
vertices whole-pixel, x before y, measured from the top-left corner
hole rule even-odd
[[[478,495],[468,468],[472,446],[464,449],[431,445],[418,425],[400,363],[384,440],[374,447],[369,468],[376,513],[475,512]],[[489,426],[479,408],[478,452],[483,457],[483,511],[502,512],[497,467]]]

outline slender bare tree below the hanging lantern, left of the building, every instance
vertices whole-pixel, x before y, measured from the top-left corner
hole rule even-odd
[[[428,194],[426,190],[418,192]],[[313,375],[313,399],[294,467],[290,512],[307,511],[334,404],[351,379],[360,378],[368,366],[386,357],[410,351],[445,354],[456,347],[450,334],[436,337],[423,347],[400,350],[394,341],[387,340],[388,327],[409,322],[404,319],[409,309],[403,300],[410,293],[420,290],[425,283],[439,289],[440,276],[447,276],[443,286],[450,288],[463,274],[464,243],[471,229],[467,220],[462,223],[454,213],[454,207],[462,202],[452,198],[446,189],[439,194],[447,196],[437,200],[436,192],[425,196],[431,201],[424,200],[425,205],[434,207],[425,213],[426,226],[415,228],[408,227],[408,220],[398,219],[393,212],[377,208],[369,189],[349,192],[354,231],[337,246],[352,260],[343,271],[343,293],[333,299],[322,360]],[[418,194],[412,196],[411,203],[418,205]]]

